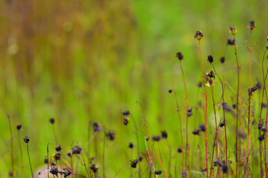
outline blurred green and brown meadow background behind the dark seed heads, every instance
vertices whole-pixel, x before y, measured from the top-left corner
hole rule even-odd
[[[128,148],[130,141],[136,144],[133,121],[131,119],[130,125],[125,126],[121,114],[128,103],[136,100],[145,110],[151,134],[160,134],[161,130],[168,132],[174,156],[180,146],[180,134],[176,102],[174,95],[167,92],[169,88],[177,92],[180,108],[183,111],[185,108],[183,80],[179,60],[175,58],[177,51],[184,54],[182,63],[187,76],[189,106],[194,113],[189,118],[191,159],[200,163],[193,166],[200,171],[204,167],[204,155],[194,157],[193,152],[203,135],[198,138],[191,134],[204,122],[202,110],[196,108],[197,102],[204,102],[204,99],[196,85],[202,80],[202,73],[195,32],[201,30],[204,34],[201,50],[205,71],[212,69],[206,62],[206,56],[212,54],[219,75],[236,90],[234,47],[226,46],[226,42],[227,38],[232,38],[229,27],[237,27],[242,90],[246,96],[247,46],[250,44],[247,26],[252,19],[258,26],[252,34],[252,83],[255,84],[256,78],[263,80],[261,60],[267,45],[267,9],[267,0],[1,0],[0,102],[11,118],[15,175],[21,173],[16,124],[23,125],[20,141],[26,135],[31,138],[30,156],[35,170],[43,165],[47,143],[55,141],[49,123],[49,118],[54,117],[63,155],[70,150],[72,141],[81,144],[86,151],[90,121],[115,130],[116,138],[107,142],[105,153],[106,176],[114,176],[125,161],[136,157],[134,150],[131,158]],[[226,61],[221,65],[219,58],[223,55]],[[215,82],[219,83],[218,79]],[[217,91],[216,102],[219,102],[220,85],[214,90]],[[258,99],[259,95],[255,96]],[[230,104],[232,97],[234,94],[226,88],[226,100]],[[208,102],[211,108],[211,97]],[[142,138],[147,133],[140,121],[142,111],[135,104],[128,108],[138,123],[140,148],[145,149]],[[209,117],[208,130],[212,133],[213,115]],[[234,118],[231,114],[227,117],[230,151],[233,151]],[[10,135],[3,110],[0,118],[0,174],[7,177],[11,169]],[[182,122],[185,128],[184,117]],[[90,134],[93,134],[92,129]],[[213,144],[211,135],[209,145]],[[102,150],[103,133],[97,136]],[[29,177],[26,143],[22,142],[22,146],[25,172]],[[158,146],[167,149],[164,141]],[[55,151],[53,148],[51,146],[51,154]],[[90,148],[94,154],[93,142]],[[172,174],[174,161],[172,158]],[[102,160],[97,160],[96,164],[102,175]],[[145,159],[143,164],[145,172]],[[179,168],[180,164],[177,163]],[[121,176],[130,176],[128,167],[122,169]],[[157,161],[155,167],[161,168]],[[79,169],[85,174],[82,165]]]

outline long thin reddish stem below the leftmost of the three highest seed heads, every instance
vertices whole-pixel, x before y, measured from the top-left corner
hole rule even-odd
[[[205,76],[204,76],[204,65],[203,65],[203,59],[202,59],[202,54],[201,54],[201,45],[200,45],[200,40],[199,40],[199,50],[200,50],[200,56],[201,56],[201,63],[202,63],[202,72],[203,72],[203,79],[204,79],[204,84],[205,84]],[[207,127],[207,93],[206,93],[206,86],[204,85],[205,88],[205,127]],[[207,130],[205,130],[205,164],[206,164],[206,177],[208,178],[208,166],[207,166],[207,136],[206,136]],[[227,177],[228,178],[228,177]]]

